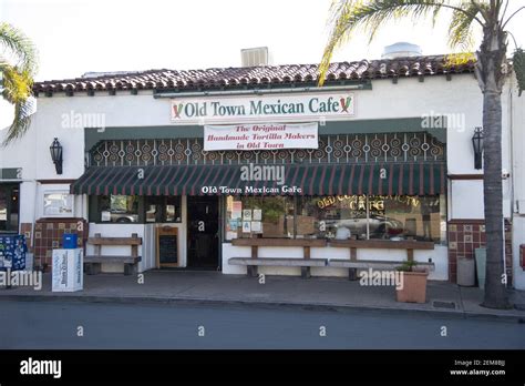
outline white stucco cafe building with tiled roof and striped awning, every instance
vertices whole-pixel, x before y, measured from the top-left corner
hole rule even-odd
[[[141,237],[140,272],[348,276],[334,262],[414,260],[455,282],[457,258],[484,245],[473,69],[444,57],[334,63],[323,88],[317,65],[39,82],[28,135],[1,160],[22,171],[1,185],[19,199],[8,222],[35,265],[74,231],[86,255],[87,237]],[[63,123],[76,114],[104,126]],[[513,276],[512,246],[506,258]]]

